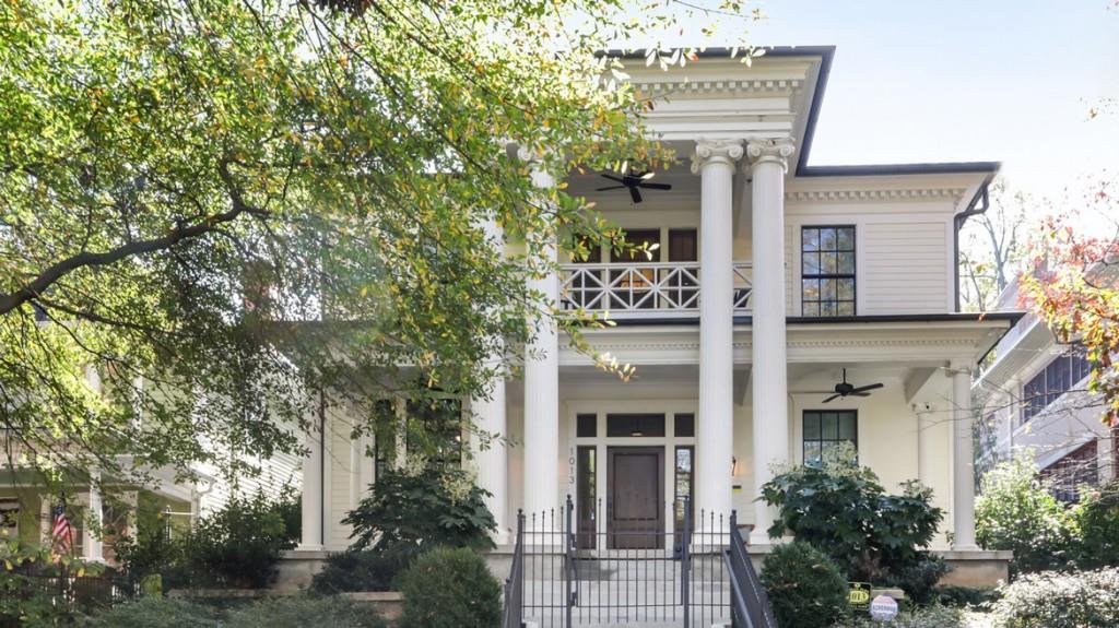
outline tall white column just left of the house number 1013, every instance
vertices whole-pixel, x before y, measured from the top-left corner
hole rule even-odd
[[[535,158],[518,151],[521,160]],[[543,169],[533,170],[533,183],[540,189],[555,187],[555,179]],[[560,278],[555,241],[544,242],[542,274],[528,278],[529,289],[544,296],[544,306],[558,302]],[[560,504],[560,340],[554,321],[546,315],[536,322],[536,334],[525,355],[525,482],[523,504],[527,513],[543,513]]]

